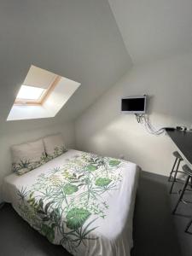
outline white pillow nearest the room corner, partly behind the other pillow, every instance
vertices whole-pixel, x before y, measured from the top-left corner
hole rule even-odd
[[[49,160],[67,152],[61,133],[44,137],[44,148]]]

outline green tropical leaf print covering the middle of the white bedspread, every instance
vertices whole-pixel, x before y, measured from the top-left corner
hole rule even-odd
[[[78,154],[18,190],[20,215],[73,255],[84,241],[95,240],[97,220],[108,214],[108,195],[119,189],[124,161]]]

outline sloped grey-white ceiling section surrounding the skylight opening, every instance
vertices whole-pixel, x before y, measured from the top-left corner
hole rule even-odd
[[[0,2],[0,131],[75,119],[131,67],[108,0]],[[81,83],[54,119],[6,122],[31,65]]]

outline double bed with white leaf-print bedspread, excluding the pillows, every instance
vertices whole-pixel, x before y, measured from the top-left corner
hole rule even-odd
[[[139,167],[77,150],[3,180],[3,200],[72,255],[129,256]]]

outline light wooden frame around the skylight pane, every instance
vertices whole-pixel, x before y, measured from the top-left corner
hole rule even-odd
[[[14,105],[20,105],[20,106],[42,106],[46,99],[49,97],[51,92],[55,89],[55,86],[59,83],[61,80],[61,76],[56,76],[54,81],[49,85],[48,89],[44,90],[42,95],[38,98],[38,100],[29,100],[29,99],[15,99]],[[27,84],[22,84],[27,85]],[[32,86],[32,85],[30,85]]]

